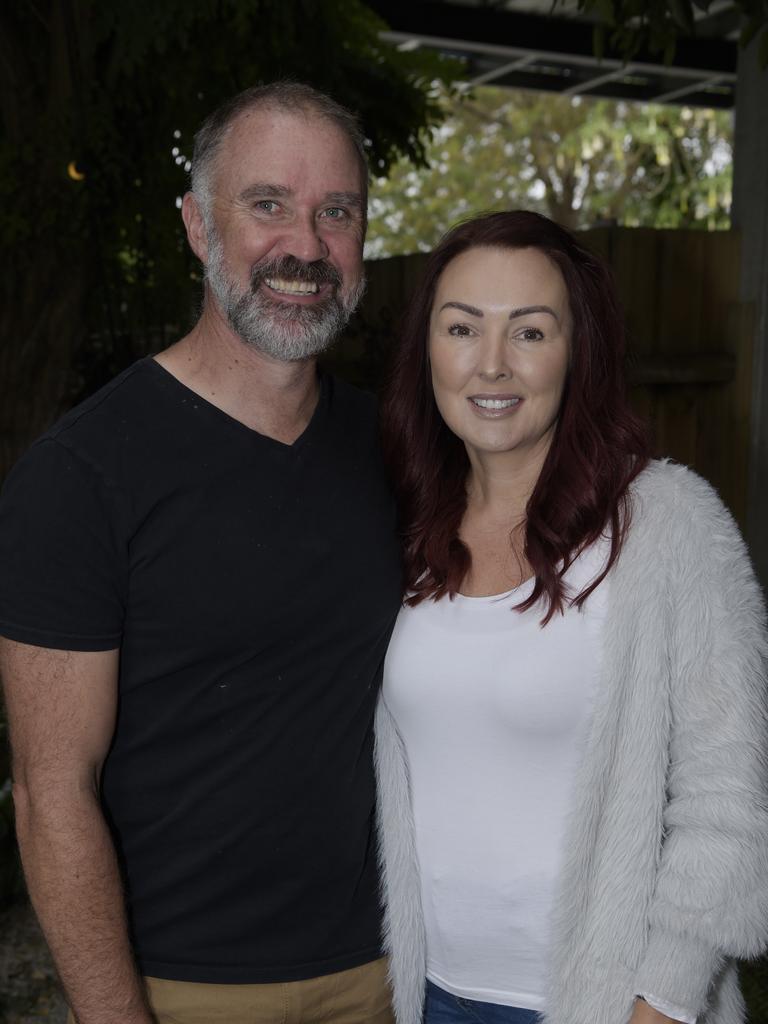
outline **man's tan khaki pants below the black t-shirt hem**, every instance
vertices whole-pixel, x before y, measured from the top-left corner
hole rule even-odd
[[[158,1024],[394,1024],[386,959],[306,981],[201,985],[145,978]],[[68,1024],[74,1024],[70,1014]]]

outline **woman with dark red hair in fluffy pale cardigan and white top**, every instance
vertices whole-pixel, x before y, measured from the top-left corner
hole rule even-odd
[[[608,271],[532,213],[451,231],[406,317],[377,716],[398,1024],[743,1019],[762,599],[712,488],[649,461],[623,359]]]

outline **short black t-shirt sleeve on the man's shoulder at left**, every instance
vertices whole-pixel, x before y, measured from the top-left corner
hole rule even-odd
[[[120,646],[126,554],[119,501],[98,471],[44,438],[0,495],[0,634],[61,650]]]

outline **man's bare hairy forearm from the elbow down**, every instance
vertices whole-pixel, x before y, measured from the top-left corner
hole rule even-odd
[[[151,1024],[96,798],[16,787],[14,799],[30,896],[79,1024]]]

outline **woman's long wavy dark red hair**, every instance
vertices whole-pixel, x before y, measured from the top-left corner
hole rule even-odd
[[[459,537],[469,460],[435,404],[428,334],[440,274],[476,248],[538,249],[557,265],[568,292],[568,377],[552,445],[526,508],[525,557],[536,585],[518,605],[523,610],[544,597],[546,624],[566,602],[581,606],[618,557],[630,522],[628,488],[648,461],[648,438],[627,401],[624,319],[602,260],[569,231],[524,210],[486,214],[449,231],[406,311],[382,398],[382,442],[398,503],[409,603],[453,596],[471,562]],[[603,534],[610,552],[601,575],[581,594],[568,595],[565,570]]]

